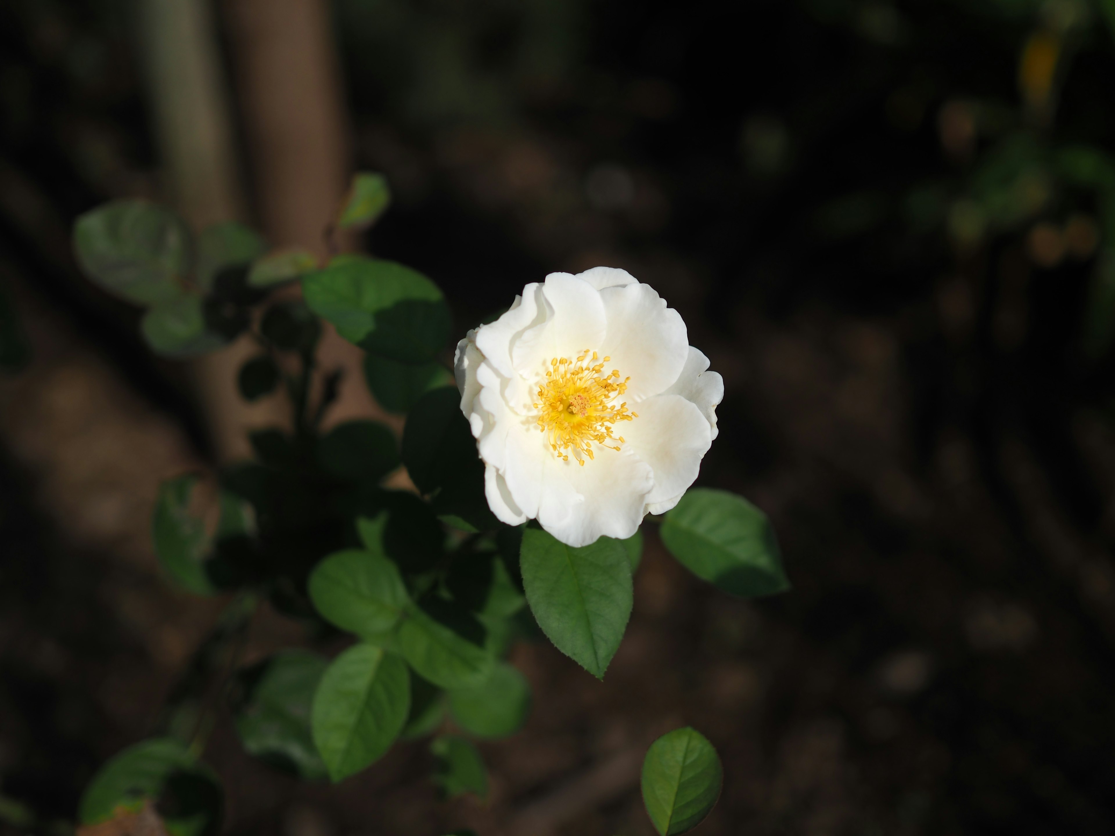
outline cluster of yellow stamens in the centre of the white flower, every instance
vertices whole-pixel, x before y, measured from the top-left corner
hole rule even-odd
[[[550,361],[545,379],[539,383],[539,429],[549,437],[554,455],[569,461],[570,455],[584,466],[584,456],[593,458],[592,445],[618,450],[623,436],[612,434],[617,421],[630,421],[638,412],[617,405],[618,396],[627,391],[631,378],[620,379],[618,369],[604,371],[603,360],[585,349],[575,360],[555,357]]]

